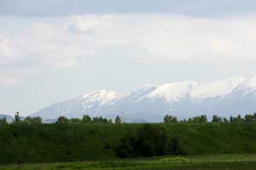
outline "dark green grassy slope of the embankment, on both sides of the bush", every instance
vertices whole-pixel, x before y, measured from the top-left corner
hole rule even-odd
[[[256,123],[169,123],[186,155],[256,153]],[[0,163],[112,160],[127,132],[143,124],[0,125]]]

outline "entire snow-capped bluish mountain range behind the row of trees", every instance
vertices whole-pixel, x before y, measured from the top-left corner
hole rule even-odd
[[[234,77],[219,82],[172,82],[144,85],[130,94],[99,90],[50,105],[32,116],[55,119],[58,116],[114,117],[127,122],[161,122],[163,116],[178,118],[206,114],[230,116],[256,111],[256,77]]]

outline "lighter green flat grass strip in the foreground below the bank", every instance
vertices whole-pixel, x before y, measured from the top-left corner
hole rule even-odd
[[[115,161],[78,161],[49,164],[2,165],[1,170],[254,170],[256,155],[165,156]]]

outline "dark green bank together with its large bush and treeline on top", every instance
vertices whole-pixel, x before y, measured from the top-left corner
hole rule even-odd
[[[247,122],[247,123],[242,123]],[[40,117],[19,112],[14,122],[0,120],[0,163],[114,160],[150,156],[256,154],[256,113],[242,117],[195,116],[164,123],[114,123],[102,116],[82,119],[60,116],[44,124]]]

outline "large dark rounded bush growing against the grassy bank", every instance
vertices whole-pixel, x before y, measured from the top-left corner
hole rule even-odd
[[[165,127],[145,124],[138,132],[125,134],[117,153],[119,157],[148,157],[178,155],[182,151],[177,137],[171,139]]]

